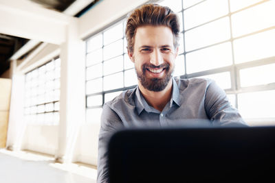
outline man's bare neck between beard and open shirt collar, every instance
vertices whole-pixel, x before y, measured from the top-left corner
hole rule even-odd
[[[138,84],[138,87],[140,88],[140,92],[142,93],[142,96],[144,97],[148,105],[159,111],[162,111],[164,109],[166,103],[170,101],[172,96],[172,80],[170,80],[164,90],[159,92],[147,90],[142,86],[142,84],[140,84],[140,82]]]

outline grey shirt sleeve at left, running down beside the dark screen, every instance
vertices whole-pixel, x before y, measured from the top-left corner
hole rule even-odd
[[[111,135],[120,128],[122,128],[120,117],[107,104],[104,104],[98,138],[98,183],[109,182],[107,145]]]

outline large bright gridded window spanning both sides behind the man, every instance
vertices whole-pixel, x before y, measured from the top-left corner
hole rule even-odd
[[[275,123],[274,107],[254,108],[261,110],[259,115],[252,109],[275,99],[275,1],[164,0],[159,4],[179,16],[181,33],[174,76],[215,80],[248,123],[252,119]],[[105,101],[137,84],[126,54],[124,21],[87,40],[87,113],[98,112]],[[254,105],[248,104],[250,97]]]

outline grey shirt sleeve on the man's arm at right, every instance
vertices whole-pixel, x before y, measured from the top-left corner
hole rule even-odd
[[[224,90],[212,80],[206,88],[205,109],[213,125],[248,126],[239,111],[231,106]]]

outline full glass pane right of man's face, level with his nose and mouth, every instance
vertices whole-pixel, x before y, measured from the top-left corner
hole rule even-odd
[[[232,64],[231,43],[200,49],[186,54],[187,73],[196,73],[209,69],[216,69]]]

